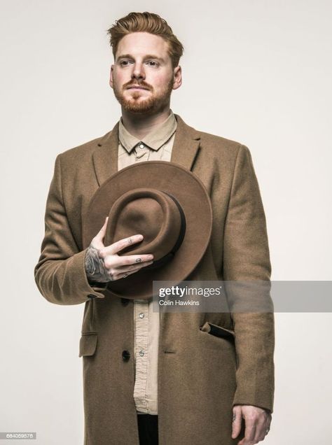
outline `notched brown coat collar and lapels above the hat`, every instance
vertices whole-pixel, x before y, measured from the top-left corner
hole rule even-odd
[[[177,131],[175,132],[171,162],[191,170],[200,148],[200,134],[193,127],[186,125],[179,115],[176,114],[175,117],[177,118]],[[106,133],[99,140],[98,148],[92,153],[99,186],[118,171],[118,127],[119,122],[116,122],[111,132]]]

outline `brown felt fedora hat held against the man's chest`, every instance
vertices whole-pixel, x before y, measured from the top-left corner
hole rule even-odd
[[[92,196],[82,221],[83,249],[104,225],[104,246],[134,234],[143,241],[118,255],[152,253],[153,264],[109,281],[117,297],[153,296],[153,281],[185,280],[207,249],[212,232],[212,205],[198,176],[179,164],[146,161],[121,169]]]

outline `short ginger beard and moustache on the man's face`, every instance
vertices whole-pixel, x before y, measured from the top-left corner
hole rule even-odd
[[[171,78],[165,88],[162,91],[158,92],[158,94],[153,94],[153,87],[151,87],[151,85],[148,85],[144,81],[130,81],[123,85],[123,87],[120,87],[116,85],[116,83],[113,83],[113,92],[120,105],[123,106],[123,108],[130,113],[156,113],[157,111],[160,111],[160,109],[165,108],[165,106],[170,103],[173,83],[174,80],[173,78]],[[123,94],[123,91],[126,90],[127,87],[130,87],[130,85],[140,85],[141,87],[148,88],[148,90],[151,91],[151,94],[146,99],[142,99],[141,92],[134,91],[130,94],[130,98],[128,99]]]

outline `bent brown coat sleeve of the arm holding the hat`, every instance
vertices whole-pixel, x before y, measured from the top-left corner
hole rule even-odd
[[[61,155],[55,160],[45,212],[45,235],[41,255],[34,268],[36,285],[48,302],[79,304],[92,297],[104,298],[102,290],[92,287],[85,274],[85,252],[78,246],[71,232],[62,199]]]

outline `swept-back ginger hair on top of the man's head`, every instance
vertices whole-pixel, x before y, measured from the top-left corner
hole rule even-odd
[[[174,36],[172,28],[166,20],[154,13],[129,13],[125,17],[116,20],[116,22],[107,30],[110,36],[114,60],[118,44],[124,36],[132,32],[148,32],[155,36],[162,37],[168,43],[168,53],[172,59],[172,67],[179,65],[179,60],[184,52],[184,46]]]

